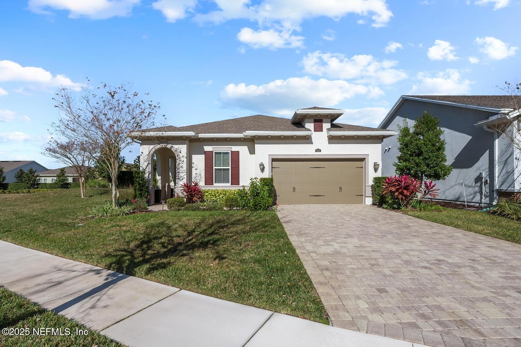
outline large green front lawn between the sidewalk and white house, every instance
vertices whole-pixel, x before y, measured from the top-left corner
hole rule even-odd
[[[90,208],[110,195],[89,189],[87,194],[92,197],[80,199],[74,189],[0,196],[0,239],[328,323],[275,212],[167,211],[88,219]]]

